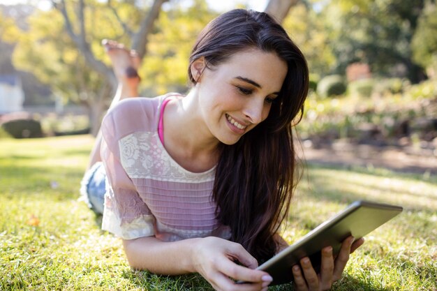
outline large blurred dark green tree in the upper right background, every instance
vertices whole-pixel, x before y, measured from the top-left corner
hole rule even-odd
[[[421,80],[423,69],[413,61],[410,47],[424,0],[333,0],[321,14],[327,20],[337,58],[336,73],[361,61],[382,75]]]

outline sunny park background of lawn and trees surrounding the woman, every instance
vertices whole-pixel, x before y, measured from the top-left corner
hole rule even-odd
[[[195,37],[230,8],[272,13],[309,61],[286,239],[357,199],[400,204],[333,290],[437,290],[435,1],[15,2],[0,4],[0,290],[210,290],[129,269],[78,188],[115,86],[101,40],[139,52],[142,96],[184,93]]]

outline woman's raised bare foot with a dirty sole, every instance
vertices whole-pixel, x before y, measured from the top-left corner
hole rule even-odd
[[[138,68],[140,67],[140,57],[134,50],[128,50],[121,43],[115,40],[102,40],[102,45],[111,59],[112,68],[117,80],[122,84],[138,86],[140,76]]]

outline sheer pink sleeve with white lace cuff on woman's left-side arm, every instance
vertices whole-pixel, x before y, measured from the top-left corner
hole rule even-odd
[[[123,114],[123,110],[126,110],[124,107],[114,107],[103,119],[101,127],[101,157],[108,179],[102,229],[122,239],[136,239],[154,235],[154,216],[138,195],[120,162],[118,141],[122,129],[120,126],[123,125],[114,121],[123,123],[126,120],[128,114]]]

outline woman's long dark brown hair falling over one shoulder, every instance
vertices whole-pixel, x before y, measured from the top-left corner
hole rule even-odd
[[[231,240],[258,262],[276,252],[274,234],[290,208],[296,157],[292,126],[302,118],[308,93],[308,66],[286,31],[266,13],[236,9],[209,22],[190,57],[205,57],[210,68],[232,54],[258,48],[286,61],[288,72],[269,116],[236,144],[221,144],[213,199],[218,221],[229,225]],[[188,69],[193,84],[195,79]]]

